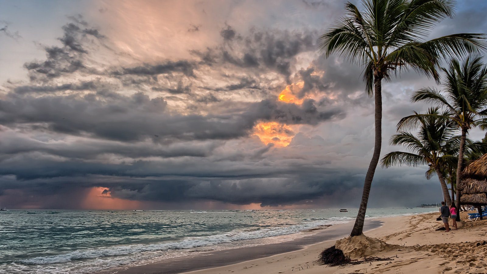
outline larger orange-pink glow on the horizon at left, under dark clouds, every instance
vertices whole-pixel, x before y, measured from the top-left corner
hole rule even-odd
[[[139,209],[140,205],[139,201],[112,197],[109,188],[92,187],[80,207],[83,209],[131,210]]]

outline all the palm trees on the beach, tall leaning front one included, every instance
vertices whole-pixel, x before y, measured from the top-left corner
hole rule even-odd
[[[442,185],[445,183],[446,186],[446,180],[454,180],[459,185],[461,172],[455,171],[462,170],[465,152],[473,152],[470,148],[471,141],[467,139],[468,130],[479,124],[476,120],[478,117],[486,115],[483,110],[485,95],[482,91],[485,87],[483,75],[486,69],[481,58],[468,58],[462,65],[453,59],[449,68],[440,66],[442,61],[452,57],[465,58],[472,54],[481,54],[487,49],[487,36],[459,33],[431,40],[424,39],[438,22],[453,17],[454,0],[362,0],[362,4],[363,10],[360,11],[356,5],[346,3],[345,16],[318,38],[320,54],[328,57],[337,53],[351,63],[363,66],[366,92],[375,98],[374,153],[365,176],[362,199],[351,236],[362,234],[372,180],[380,158],[383,80],[392,81],[398,73],[414,70],[440,83],[440,73],[443,71],[446,74],[443,92],[425,88],[415,92],[412,97],[413,101],[432,102],[440,108],[432,108],[426,114],[415,114],[399,123],[399,130],[421,127],[422,123],[436,123],[435,126],[439,126],[439,129],[437,132],[433,130],[433,133],[444,139],[438,144],[431,143],[431,148],[424,149],[420,147],[426,144],[418,140],[421,144],[418,143],[417,149],[412,149],[411,155],[396,154],[396,157],[391,156],[383,161],[386,165],[406,163],[409,160],[413,164],[429,163],[430,176],[433,172],[442,176]],[[442,119],[447,123],[445,126],[439,125]],[[456,137],[455,131],[450,127],[460,129],[460,137]],[[426,132],[420,130],[418,137],[428,135],[430,129],[425,130]],[[407,131],[401,131],[398,135],[405,137],[393,137],[393,142],[407,144],[412,148],[407,139],[413,139],[413,134],[408,135]],[[427,153],[427,150],[434,153]],[[454,161],[455,157],[456,169],[444,164],[447,159]],[[447,196],[450,198],[446,187],[444,193],[446,199]],[[459,198],[457,189],[457,204]]]

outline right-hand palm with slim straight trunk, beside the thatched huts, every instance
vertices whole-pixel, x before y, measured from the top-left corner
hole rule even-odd
[[[460,147],[458,151],[456,169],[456,204],[460,204],[460,182],[465,152],[465,143],[468,130],[479,125],[487,117],[487,66],[482,62],[482,57],[468,57],[463,64],[457,59],[450,61],[449,68],[442,68],[445,72],[443,93],[435,88],[422,88],[412,95],[412,101],[427,101],[444,107],[450,112],[448,116],[462,131]],[[414,123],[414,118],[401,121],[404,124]],[[417,121],[416,121],[417,122]],[[459,219],[459,207],[457,218]]]

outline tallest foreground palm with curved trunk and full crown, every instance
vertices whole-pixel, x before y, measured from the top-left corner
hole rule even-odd
[[[375,97],[374,153],[365,176],[360,208],[351,236],[361,235],[372,179],[382,143],[382,80],[414,70],[439,80],[440,58],[485,49],[483,34],[453,34],[424,41],[434,25],[452,17],[453,0],[362,0],[364,11],[348,2],[346,15],[318,38],[318,53],[338,53],[364,67],[366,92]]]

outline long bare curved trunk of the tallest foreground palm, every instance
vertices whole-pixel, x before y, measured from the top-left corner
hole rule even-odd
[[[380,149],[382,145],[382,77],[374,76],[374,98],[375,98],[375,144],[374,154],[369,164],[369,169],[365,175],[364,190],[362,193],[362,201],[358,209],[357,218],[355,220],[354,228],[350,236],[358,236],[362,234],[364,227],[365,212],[367,211],[367,202],[369,201],[370,188],[372,179],[374,178],[375,168],[379,162]]]

